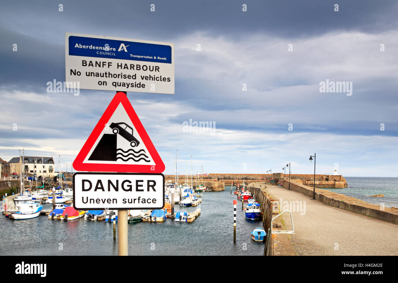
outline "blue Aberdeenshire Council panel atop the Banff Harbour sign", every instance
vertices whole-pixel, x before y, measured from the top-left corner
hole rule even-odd
[[[69,37],[69,55],[172,64],[169,45],[92,37]]]

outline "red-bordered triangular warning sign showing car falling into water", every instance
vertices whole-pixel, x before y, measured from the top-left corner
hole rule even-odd
[[[127,95],[118,92],[73,161],[73,168],[162,173],[165,167]]]

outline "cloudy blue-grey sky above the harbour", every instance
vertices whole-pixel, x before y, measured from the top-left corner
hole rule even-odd
[[[398,2],[337,2],[335,12],[336,2],[64,1],[63,12],[53,1],[3,2],[0,157],[61,155],[70,170],[113,98],[47,93],[48,81],[65,80],[72,32],[175,44],[175,94],[127,94],[165,174],[178,149],[182,174],[191,155],[194,173],[201,163],[205,173],[276,173],[291,162],[311,174],[316,153],[318,174],[337,163],[343,176],[398,177]],[[326,79],[352,81],[352,95],[321,93]],[[189,119],[215,122],[215,134],[183,132]]]

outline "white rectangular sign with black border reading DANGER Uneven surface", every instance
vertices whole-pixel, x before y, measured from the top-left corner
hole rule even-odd
[[[73,207],[88,209],[161,209],[164,175],[151,173],[75,173]]]

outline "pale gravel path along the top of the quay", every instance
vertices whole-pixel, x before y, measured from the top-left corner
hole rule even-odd
[[[298,255],[398,255],[398,225],[338,209],[280,186],[267,185],[266,190],[274,200],[305,204],[304,215],[299,209],[292,211],[295,234],[290,236]],[[290,217],[283,218],[289,228]]]

